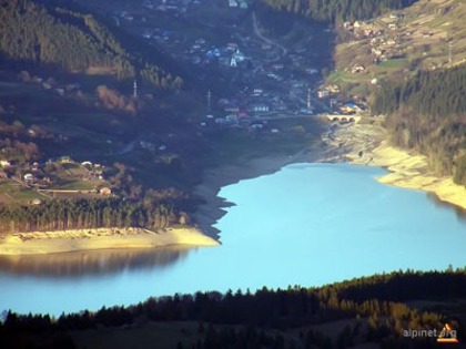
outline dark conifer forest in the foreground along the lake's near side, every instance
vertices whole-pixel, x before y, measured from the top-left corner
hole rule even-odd
[[[104,307],[97,312],[62,315],[57,319],[9,311],[0,325],[0,343],[8,348],[32,348],[20,343],[31,342],[36,333],[42,341],[48,336],[53,338],[43,348],[75,348],[70,331],[102,327],[128,330],[128,326],[139,327],[144,319],[199,324],[202,340],[185,347],[179,341],[173,349],[343,349],[364,342],[379,343],[382,349],[436,348],[435,338],[406,338],[404,329],[442,329],[448,322],[462,342],[464,324],[452,314],[425,311],[406,302],[422,299],[437,305],[435,309],[439,309],[438,304],[444,309],[450,304],[455,309],[452,311],[460,314],[460,306],[455,302],[465,296],[465,289],[466,270],[396,271],[320,288],[264,287],[255,294],[200,291],[150,298],[128,308]],[[318,329],[320,324],[340,320],[347,320],[347,325],[331,336]],[[287,336],[293,330],[295,335]],[[133,345],[138,347],[138,338]]]

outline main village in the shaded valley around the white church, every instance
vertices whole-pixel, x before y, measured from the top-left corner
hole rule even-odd
[[[236,0],[215,3],[145,0],[140,11],[116,10],[114,18],[119,25],[128,25],[149,44],[162,48],[173,59],[192,66],[200,80],[205,81],[206,112],[199,122],[201,129],[235,127],[276,133],[275,127],[267,127],[267,121],[367,110],[363,96],[346,95],[337,84],[324,84],[325,58],[306,45],[306,41],[288,42],[285,48],[263,34],[255,12],[247,11],[250,6],[249,1]],[[227,28],[224,41],[221,35],[212,37],[206,32],[193,35],[176,25],[174,19],[190,23],[202,19],[204,27],[214,28],[217,23],[209,18],[209,7],[215,7],[215,12],[220,13],[222,30]],[[244,21],[245,16],[252,17],[252,28],[236,24]],[[159,20],[161,24],[154,27],[152,18],[161,17],[165,21]],[[330,30],[321,28],[320,31],[320,35],[331,38]],[[222,95],[209,84],[212,74],[221,75],[235,91]]]

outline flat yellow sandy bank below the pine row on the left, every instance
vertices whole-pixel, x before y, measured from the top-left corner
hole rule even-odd
[[[0,255],[37,255],[87,249],[153,248],[170,245],[215,246],[219,243],[193,227],[161,232],[141,228],[99,228],[18,233],[0,242]]]

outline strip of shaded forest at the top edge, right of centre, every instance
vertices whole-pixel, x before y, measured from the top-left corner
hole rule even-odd
[[[371,19],[388,10],[411,6],[417,0],[262,0],[266,6],[305,16],[316,21]]]

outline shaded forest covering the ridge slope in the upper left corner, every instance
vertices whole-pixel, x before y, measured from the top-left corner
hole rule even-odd
[[[0,1],[0,62],[13,69],[59,66],[68,72],[141,79],[174,88],[181,79],[142,61],[93,16],[31,0]]]

